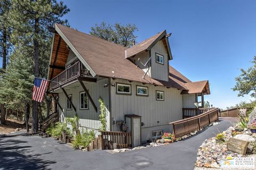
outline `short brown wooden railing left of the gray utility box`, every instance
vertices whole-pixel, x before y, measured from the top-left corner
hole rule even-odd
[[[132,133],[101,131],[102,150],[129,148],[132,146]]]

